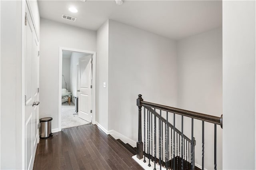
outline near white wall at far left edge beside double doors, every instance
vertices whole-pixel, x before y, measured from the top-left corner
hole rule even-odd
[[[21,1],[1,1],[0,8],[0,169],[22,168],[22,5]]]

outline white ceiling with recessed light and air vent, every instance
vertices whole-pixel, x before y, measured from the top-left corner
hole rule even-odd
[[[39,0],[38,6],[42,18],[72,26],[98,30],[112,19],[174,40],[222,26],[221,0],[124,0],[122,5],[116,5],[114,0]],[[70,12],[70,6],[78,12]],[[62,14],[77,20],[64,20]]]

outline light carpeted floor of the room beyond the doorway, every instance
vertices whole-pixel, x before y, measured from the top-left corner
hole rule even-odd
[[[75,115],[74,115],[75,114]],[[71,102],[63,103],[61,107],[61,128],[77,127],[89,124],[89,122],[78,117],[75,111],[75,105]]]

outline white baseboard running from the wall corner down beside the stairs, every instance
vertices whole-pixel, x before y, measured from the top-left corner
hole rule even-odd
[[[102,127],[102,125],[100,125],[98,122],[95,122],[95,124],[101,129],[103,130],[103,132],[105,132],[106,134],[110,134],[111,136],[113,136],[115,139],[120,139],[122,140],[122,142],[124,143],[128,143],[130,144],[132,147],[136,147],[137,142],[135,142],[134,140],[124,136],[123,134],[117,132],[116,130],[106,130],[104,127]]]

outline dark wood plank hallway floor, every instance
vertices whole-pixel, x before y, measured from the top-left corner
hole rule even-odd
[[[40,139],[34,170],[142,169],[132,153],[96,125],[66,128]]]

